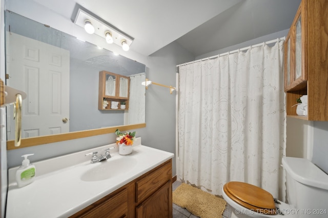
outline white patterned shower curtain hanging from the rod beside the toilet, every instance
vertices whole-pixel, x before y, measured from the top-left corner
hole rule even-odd
[[[283,41],[180,65],[178,178],[215,195],[242,181],[284,199],[284,98]]]

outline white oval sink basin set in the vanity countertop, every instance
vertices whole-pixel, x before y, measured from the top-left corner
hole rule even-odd
[[[129,173],[136,166],[137,160],[129,156],[116,156],[94,165],[81,176],[83,181],[100,181]]]

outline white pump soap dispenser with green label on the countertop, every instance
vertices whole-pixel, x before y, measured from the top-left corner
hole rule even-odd
[[[19,188],[24,187],[34,181],[35,178],[35,166],[30,163],[30,160],[27,158],[34,154],[22,155],[24,160],[22,165],[18,167],[16,171],[16,181]]]

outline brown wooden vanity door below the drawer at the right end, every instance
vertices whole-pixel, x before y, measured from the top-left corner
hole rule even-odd
[[[137,218],[172,218],[172,183],[163,185],[137,207]]]

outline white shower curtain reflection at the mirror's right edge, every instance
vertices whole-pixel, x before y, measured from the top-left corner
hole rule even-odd
[[[124,113],[124,125],[145,123],[146,89],[141,85],[145,81],[145,72],[130,76],[129,110]]]

